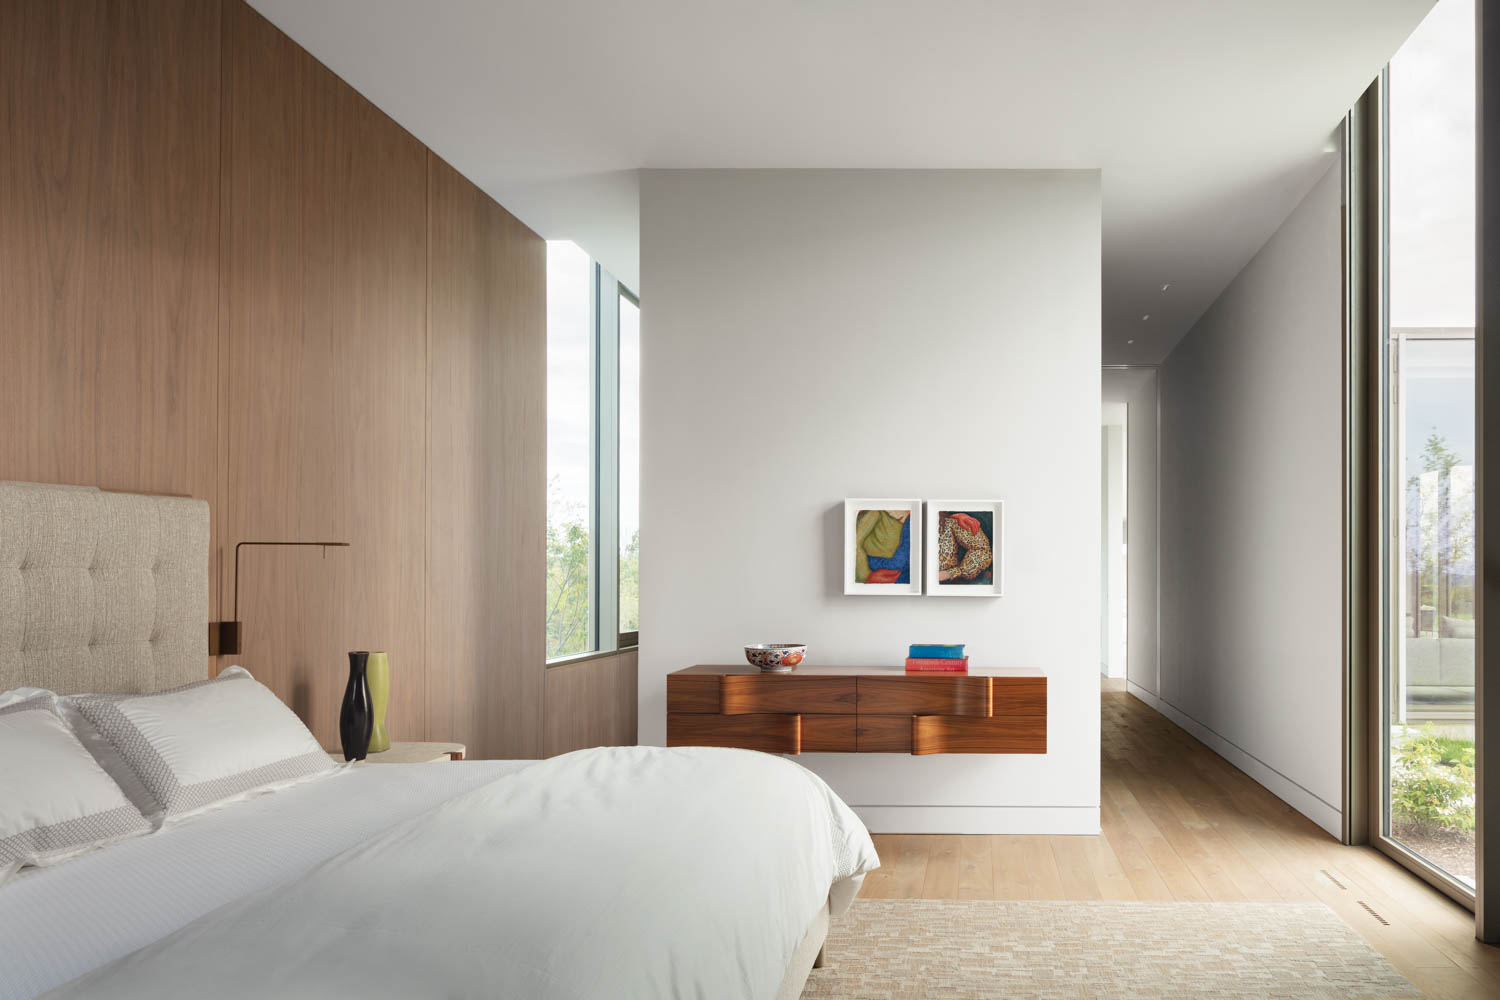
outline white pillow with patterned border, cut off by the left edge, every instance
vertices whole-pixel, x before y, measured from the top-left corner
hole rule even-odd
[[[0,879],[152,829],[50,693],[0,708]]]

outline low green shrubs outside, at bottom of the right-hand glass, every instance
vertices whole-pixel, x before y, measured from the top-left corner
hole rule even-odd
[[[1431,726],[1402,729],[1392,747],[1390,823],[1418,831],[1474,829],[1474,744]]]

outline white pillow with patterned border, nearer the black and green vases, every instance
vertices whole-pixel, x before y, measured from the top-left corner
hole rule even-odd
[[[339,771],[302,720],[242,667],[158,694],[72,702],[129,762],[165,820]]]

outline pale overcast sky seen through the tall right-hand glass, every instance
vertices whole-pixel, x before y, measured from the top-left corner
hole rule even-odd
[[[1474,325],[1474,0],[1390,60],[1390,325]]]

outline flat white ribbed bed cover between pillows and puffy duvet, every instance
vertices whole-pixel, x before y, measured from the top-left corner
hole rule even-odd
[[[0,885],[0,1000],[42,994],[534,760],[362,765]]]

